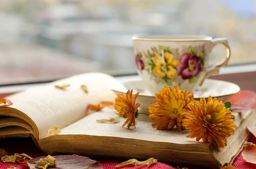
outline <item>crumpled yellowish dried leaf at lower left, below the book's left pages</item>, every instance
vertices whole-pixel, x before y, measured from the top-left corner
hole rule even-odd
[[[27,160],[31,160],[31,159],[33,158],[24,153],[23,154],[15,153],[14,155],[10,155],[10,156],[5,155],[1,157],[1,160],[5,163],[26,163]]]

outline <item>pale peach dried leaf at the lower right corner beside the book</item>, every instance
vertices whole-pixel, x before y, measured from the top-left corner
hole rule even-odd
[[[244,142],[245,150],[242,152],[242,156],[245,161],[256,164],[256,144]]]

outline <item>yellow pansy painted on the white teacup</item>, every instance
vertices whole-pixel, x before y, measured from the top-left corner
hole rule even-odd
[[[164,52],[164,58],[160,54],[154,56],[153,63],[155,67],[153,72],[157,77],[167,76],[169,79],[175,79],[177,77],[176,67],[179,64],[179,60],[173,57],[173,54],[170,52]]]

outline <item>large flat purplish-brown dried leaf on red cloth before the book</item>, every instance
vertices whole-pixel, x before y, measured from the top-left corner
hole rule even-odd
[[[49,156],[49,155],[48,155]],[[47,156],[47,157],[48,157]],[[100,163],[98,163],[96,160],[91,160],[90,158],[79,156],[79,155],[55,155],[50,156],[51,158],[55,158],[55,164],[56,166],[54,168],[60,168],[60,169],[102,169],[102,166]],[[34,158],[33,160],[29,160],[29,168],[35,169],[37,162],[41,159],[44,159],[45,157],[39,157]],[[44,160],[41,160],[44,161]],[[50,169],[51,167],[49,167]]]

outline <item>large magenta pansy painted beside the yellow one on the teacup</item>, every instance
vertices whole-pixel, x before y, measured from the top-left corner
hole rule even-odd
[[[200,70],[201,63],[198,56],[185,53],[180,57],[180,63],[177,66],[177,74],[182,75],[183,79],[197,76]]]

